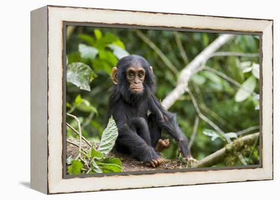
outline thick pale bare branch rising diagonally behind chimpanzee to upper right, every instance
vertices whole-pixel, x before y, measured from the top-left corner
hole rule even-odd
[[[201,65],[223,44],[232,39],[234,35],[220,35],[214,42],[212,42],[208,47],[206,47],[198,56],[196,56],[181,72],[176,88],[167,95],[163,101],[162,105],[166,109],[169,109],[175,101],[177,101],[181,95],[185,93],[185,89],[188,86],[188,81],[190,77],[200,71]]]

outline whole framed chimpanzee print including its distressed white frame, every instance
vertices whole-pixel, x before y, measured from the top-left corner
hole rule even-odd
[[[273,20],[31,12],[31,187],[273,179]]]

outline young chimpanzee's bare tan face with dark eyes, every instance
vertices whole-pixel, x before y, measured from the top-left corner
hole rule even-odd
[[[129,91],[132,93],[143,92],[145,70],[141,66],[131,66],[126,70],[126,80],[129,84]]]

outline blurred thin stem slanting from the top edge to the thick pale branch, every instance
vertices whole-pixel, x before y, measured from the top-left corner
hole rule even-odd
[[[136,30],[136,34],[141,38],[146,44],[148,44],[161,58],[167,67],[176,75],[178,73],[177,68],[170,62],[169,59],[164,55],[164,53],[153,43],[147,36],[145,36],[141,31]]]

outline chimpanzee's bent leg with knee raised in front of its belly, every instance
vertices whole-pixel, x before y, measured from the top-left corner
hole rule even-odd
[[[137,134],[142,137],[149,146],[151,146],[151,135],[148,127],[148,123],[144,118],[134,118],[132,123],[136,129]]]

